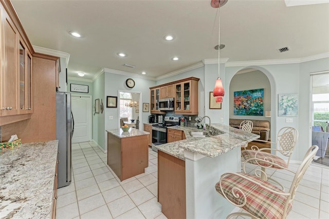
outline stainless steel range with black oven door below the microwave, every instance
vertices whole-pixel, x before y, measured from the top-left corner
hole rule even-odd
[[[167,127],[179,125],[179,117],[165,116],[161,124],[152,125],[152,150],[158,151],[154,145],[167,143]]]

